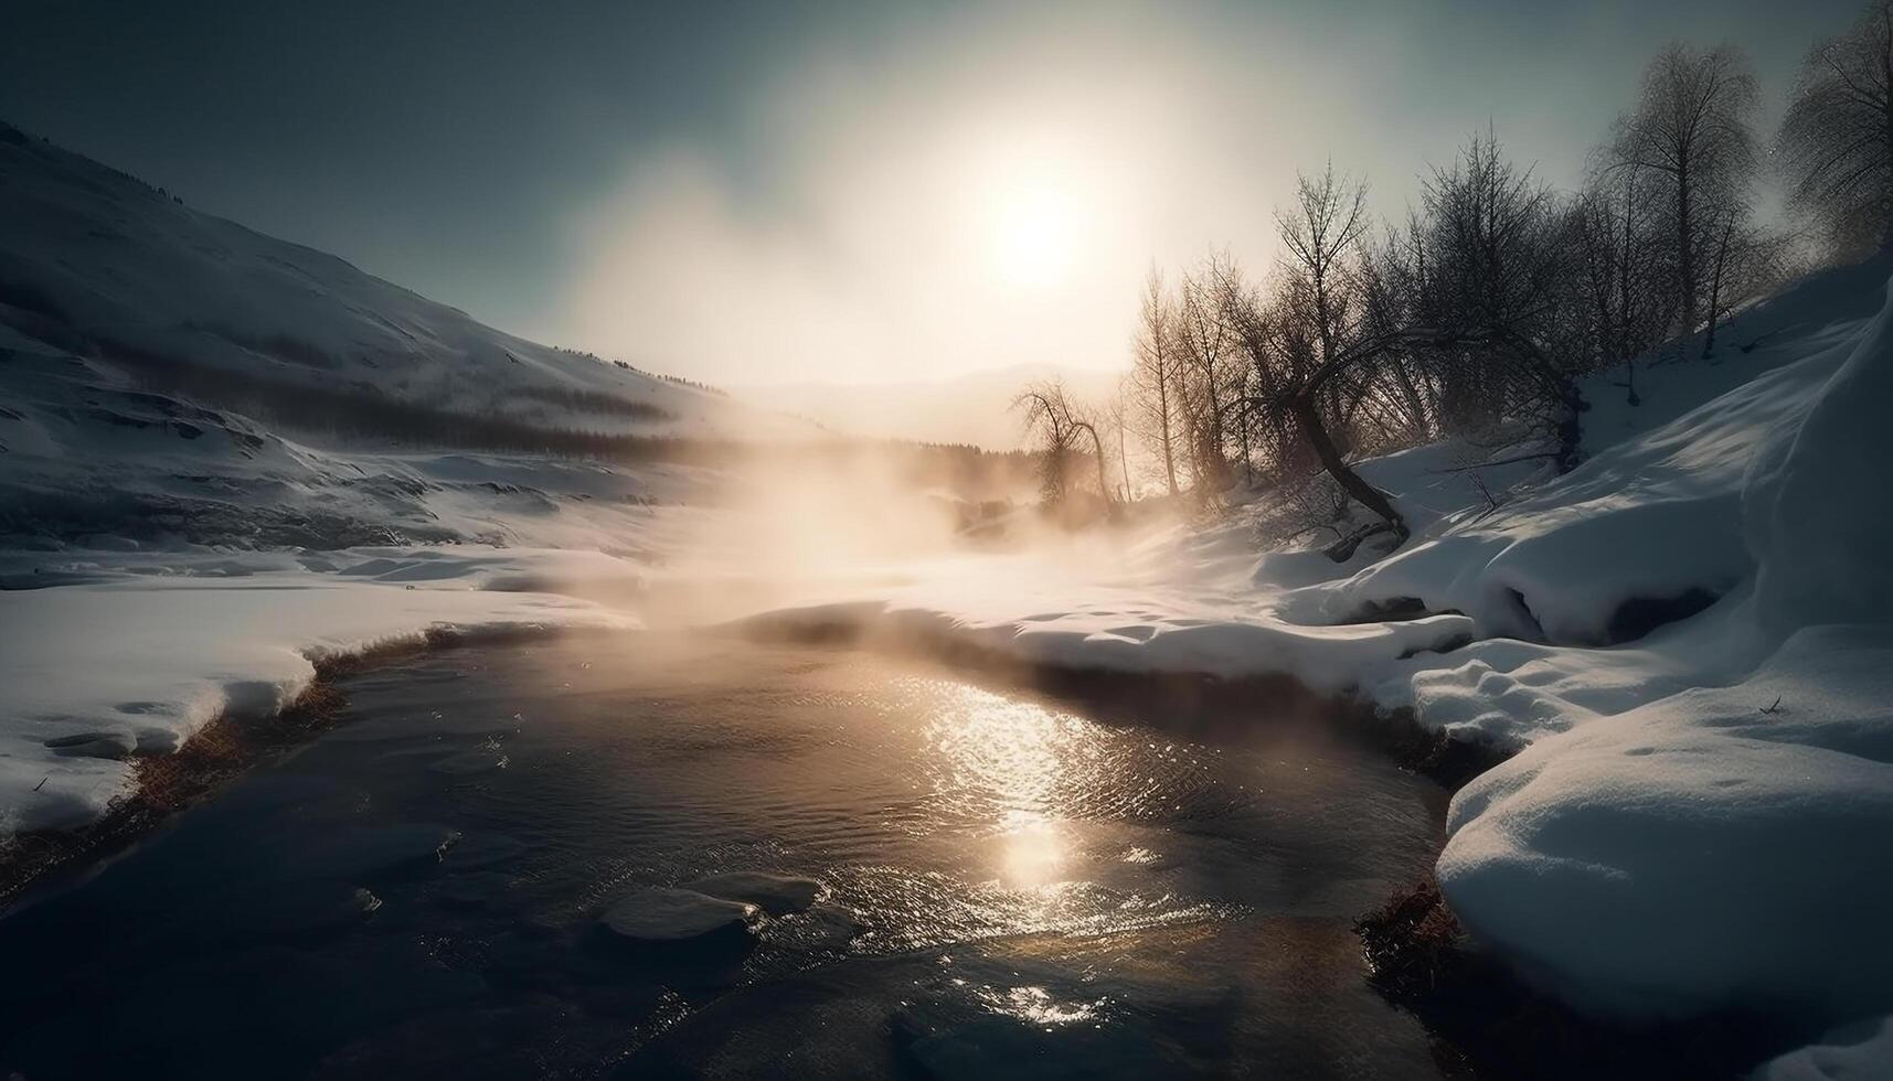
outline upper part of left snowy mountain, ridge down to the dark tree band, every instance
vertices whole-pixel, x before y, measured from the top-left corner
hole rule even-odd
[[[0,318],[148,371],[587,432],[714,430],[717,396],[534,345],[0,125]]]

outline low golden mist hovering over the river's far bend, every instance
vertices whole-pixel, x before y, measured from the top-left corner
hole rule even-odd
[[[666,627],[878,604],[907,587],[973,600],[1020,583],[1124,581],[1138,545],[1177,523],[1159,504],[1106,519],[1088,488],[1075,496],[1083,528],[1071,528],[1037,494],[1035,464],[1018,454],[948,471],[886,443],[772,445],[731,462],[695,505],[664,511],[661,566],[632,583],[560,589]]]

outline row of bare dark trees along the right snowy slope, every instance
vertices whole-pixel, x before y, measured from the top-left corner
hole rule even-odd
[[[1336,541],[1344,558],[1408,532],[1352,468],[1363,456],[1537,441],[1569,470],[1583,377],[1620,367],[1636,403],[1637,358],[1713,356],[1728,314],[1812,257],[1893,244],[1893,0],[1808,53],[1772,140],[1759,112],[1742,51],[1672,44],[1577,191],[1513,161],[1492,131],[1424,174],[1405,222],[1376,223],[1365,182],[1333,165],[1299,174],[1265,273],[1221,252],[1151,271],[1117,401],[1087,409],[1056,382],[1020,396],[1047,502],[1088,483],[1073,468],[1087,454],[1096,494],[1130,498],[1132,441],[1145,479],[1202,507],[1325,473],[1369,515]],[[1779,222],[1757,206],[1770,167]]]

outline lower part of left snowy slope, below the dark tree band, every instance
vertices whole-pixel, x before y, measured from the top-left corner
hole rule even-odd
[[[288,435],[4,326],[0,386],[0,547],[15,549],[488,541],[636,551],[649,507],[689,498],[704,473]]]

